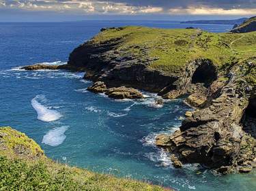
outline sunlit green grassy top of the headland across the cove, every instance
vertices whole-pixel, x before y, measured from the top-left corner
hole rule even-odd
[[[153,29],[123,27],[102,31],[91,39],[92,44],[122,39],[117,50],[143,58],[158,58],[150,67],[172,73],[196,58],[210,58],[221,67],[232,61],[242,62],[256,52],[256,32],[209,33],[199,29]],[[147,50],[147,55],[141,50]]]

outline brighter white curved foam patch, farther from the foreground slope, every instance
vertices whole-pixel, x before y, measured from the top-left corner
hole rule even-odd
[[[32,107],[38,113],[38,120],[43,122],[52,122],[61,118],[61,114],[58,111],[48,109],[44,105],[40,104],[37,101],[38,98],[40,98],[40,96],[36,96],[31,100]]]

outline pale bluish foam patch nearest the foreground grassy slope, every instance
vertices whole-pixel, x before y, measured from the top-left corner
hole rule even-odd
[[[68,126],[61,126],[48,131],[48,133],[44,135],[42,139],[42,143],[46,145],[50,145],[52,147],[61,145],[61,143],[63,143],[63,141],[66,139],[66,135],[64,133],[67,130],[68,130]]]

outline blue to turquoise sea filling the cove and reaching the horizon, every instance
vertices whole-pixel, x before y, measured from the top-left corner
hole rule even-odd
[[[37,141],[60,162],[176,190],[256,190],[255,173],[214,175],[197,164],[174,169],[168,154],[154,147],[158,133],[175,131],[190,108],[182,99],[154,105],[115,101],[87,92],[84,73],[22,71],[23,65],[63,64],[70,52],[102,27],[143,25],[200,27],[226,32],[231,25],[156,21],[0,23],[0,126],[12,126]]]

